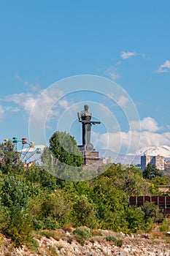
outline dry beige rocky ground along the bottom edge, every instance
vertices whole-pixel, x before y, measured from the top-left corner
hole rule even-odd
[[[81,228],[84,230],[87,229],[86,227]],[[133,234],[131,236],[123,233],[114,233],[108,230],[90,230],[90,233],[91,236],[87,238],[73,233],[71,227],[67,227],[64,230],[42,230],[35,234],[37,243],[32,250],[28,249],[26,246],[15,248],[8,238],[1,235],[0,255],[170,256],[170,237],[157,231],[148,235]],[[117,246],[115,244],[117,244]]]

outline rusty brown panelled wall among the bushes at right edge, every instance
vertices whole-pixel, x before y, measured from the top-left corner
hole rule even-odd
[[[143,206],[146,202],[153,202],[159,207],[159,211],[164,215],[170,215],[170,197],[167,196],[134,196],[129,197],[129,205]]]

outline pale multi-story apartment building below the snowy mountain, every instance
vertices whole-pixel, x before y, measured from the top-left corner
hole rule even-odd
[[[147,164],[155,165],[155,167],[158,170],[164,170],[165,169],[165,157],[163,156],[150,156],[147,154],[144,154],[144,156],[141,157],[141,169],[144,170],[145,167],[147,167]]]

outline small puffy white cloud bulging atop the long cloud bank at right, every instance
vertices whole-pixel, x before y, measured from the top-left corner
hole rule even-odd
[[[152,117],[146,117],[142,121],[131,121],[130,127],[132,130],[139,131],[149,131],[149,132],[158,132],[160,127],[158,127],[157,121]]]

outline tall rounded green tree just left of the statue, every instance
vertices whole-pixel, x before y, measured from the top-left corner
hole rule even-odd
[[[47,172],[67,181],[80,180],[83,165],[82,154],[74,137],[66,132],[55,132],[50,146],[42,154],[43,167]]]

